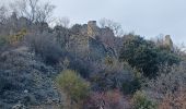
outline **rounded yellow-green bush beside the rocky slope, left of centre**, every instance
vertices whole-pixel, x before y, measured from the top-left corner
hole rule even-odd
[[[72,101],[84,99],[89,95],[90,86],[75,71],[65,70],[56,78],[59,88]]]

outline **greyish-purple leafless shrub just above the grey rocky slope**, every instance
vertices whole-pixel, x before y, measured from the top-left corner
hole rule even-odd
[[[37,56],[40,56],[49,64],[57,63],[65,52],[49,33],[30,34],[26,37],[26,43]]]

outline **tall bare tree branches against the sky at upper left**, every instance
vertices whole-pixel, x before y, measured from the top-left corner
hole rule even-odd
[[[32,22],[48,22],[55,5],[39,0],[16,0],[10,4],[10,8],[19,16],[24,16]]]

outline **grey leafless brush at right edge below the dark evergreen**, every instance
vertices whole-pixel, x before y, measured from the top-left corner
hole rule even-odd
[[[156,100],[162,100],[167,94],[175,94],[179,88],[186,88],[185,62],[171,68],[163,68],[161,75],[154,80],[147,81],[144,89],[147,94]]]

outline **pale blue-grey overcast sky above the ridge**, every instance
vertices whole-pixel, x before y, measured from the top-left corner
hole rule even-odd
[[[135,32],[146,38],[160,34],[171,35],[175,44],[186,44],[186,0],[50,0],[50,2],[56,5],[55,16],[67,16],[71,24],[83,24],[105,17],[120,23],[125,33]]]

